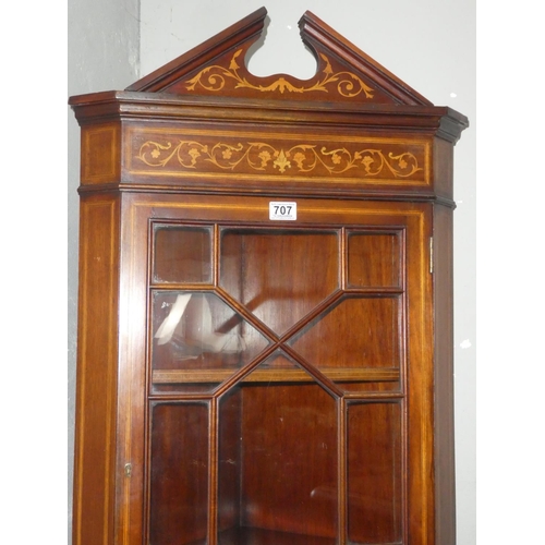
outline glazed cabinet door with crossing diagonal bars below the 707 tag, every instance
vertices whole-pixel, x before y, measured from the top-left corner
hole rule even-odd
[[[424,543],[426,210],[269,201],[131,208],[144,543]]]

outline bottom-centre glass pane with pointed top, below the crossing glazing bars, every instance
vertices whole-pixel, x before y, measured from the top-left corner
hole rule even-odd
[[[334,545],[336,401],[310,375],[267,382],[270,371],[259,365],[220,400],[219,544]]]

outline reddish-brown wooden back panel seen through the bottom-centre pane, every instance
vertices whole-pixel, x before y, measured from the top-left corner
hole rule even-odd
[[[317,385],[243,387],[242,525],[337,534],[337,411]]]

